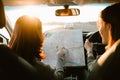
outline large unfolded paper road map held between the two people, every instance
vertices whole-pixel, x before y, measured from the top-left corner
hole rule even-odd
[[[55,67],[57,63],[57,51],[62,47],[69,51],[66,53],[67,56],[64,66],[85,66],[83,35],[81,30],[63,29],[48,31],[43,49],[47,57],[43,62]]]

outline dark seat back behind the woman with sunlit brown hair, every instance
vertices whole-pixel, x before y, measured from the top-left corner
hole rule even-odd
[[[39,76],[31,64],[0,44],[0,80],[38,80]]]

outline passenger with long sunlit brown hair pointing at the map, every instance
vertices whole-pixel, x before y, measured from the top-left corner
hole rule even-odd
[[[52,69],[49,65],[41,62],[45,55],[42,51],[44,36],[42,34],[42,22],[33,16],[24,15],[17,19],[15,28],[9,43],[9,47],[32,64],[40,73],[42,80],[63,80],[61,66]]]

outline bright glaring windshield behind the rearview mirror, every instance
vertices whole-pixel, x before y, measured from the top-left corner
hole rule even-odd
[[[48,5],[37,5],[37,6],[5,6],[6,14],[14,28],[15,21],[18,17],[24,14],[37,16],[43,23],[43,32],[58,28],[58,27],[78,27],[83,28],[84,23],[96,26],[96,20],[99,12],[108,6],[109,4],[90,4],[83,6],[70,6],[70,8],[80,9],[80,15],[78,16],[55,16],[55,10],[61,9],[63,6],[48,6]],[[87,25],[86,24],[86,25]],[[84,27],[85,28],[85,27]],[[91,29],[82,29],[88,31]],[[90,28],[90,27],[89,27]],[[96,28],[92,28],[95,30]]]

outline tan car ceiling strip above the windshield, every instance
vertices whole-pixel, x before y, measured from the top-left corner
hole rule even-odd
[[[21,6],[21,5],[84,5],[91,3],[113,3],[120,0],[2,0],[5,6]]]

